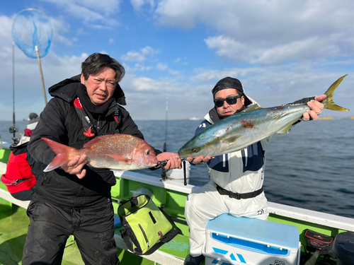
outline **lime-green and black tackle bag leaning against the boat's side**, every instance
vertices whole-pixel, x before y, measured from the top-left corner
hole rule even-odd
[[[182,232],[148,195],[132,197],[120,205],[118,215],[124,229],[120,230],[127,248],[137,254],[152,254]]]

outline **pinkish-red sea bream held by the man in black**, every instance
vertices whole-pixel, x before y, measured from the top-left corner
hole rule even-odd
[[[76,155],[87,155],[88,165],[111,170],[142,170],[157,164],[157,158],[149,144],[128,134],[99,136],[76,149],[42,138],[57,156],[47,165],[45,172],[54,170],[72,160]]]

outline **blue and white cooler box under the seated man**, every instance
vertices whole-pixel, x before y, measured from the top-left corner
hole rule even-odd
[[[222,214],[207,224],[205,265],[299,265],[301,243],[293,225]]]

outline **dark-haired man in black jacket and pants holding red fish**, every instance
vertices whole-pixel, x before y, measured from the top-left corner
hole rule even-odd
[[[43,172],[55,153],[42,137],[82,148],[96,136],[130,134],[144,139],[130,114],[121,106],[125,95],[118,82],[125,69],[106,54],[91,54],[81,75],[49,88],[54,98],[40,114],[28,152],[42,166],[33,200],[28,206],[30,225],[23,250],[23,265],[61,264],[69,235],[74,235],[85,264],[119,264],[114,240],[110,189],[113,172],[86,165],[76,156],[50,172]],[[154,149],[166,169],[181,168],[175,153]]]

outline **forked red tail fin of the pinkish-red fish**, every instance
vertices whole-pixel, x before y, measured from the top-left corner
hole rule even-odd
[[[42,138],[42,140],[46,141],[48,146],[52,148],[52,151],[57,155],[52,162],[45,167],[44,172],[48,172],[51,170],[55,170],[57,167],[64,165],[72,159],[72,151],[75,151],[75,148],[65,146],[62,143],[57,143],[56,141],[52,141],[50,139]]]

